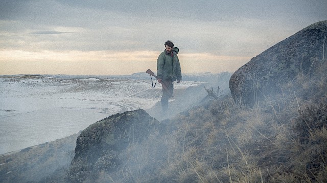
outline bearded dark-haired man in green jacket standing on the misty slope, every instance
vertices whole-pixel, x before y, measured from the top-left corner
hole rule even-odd
[[[168,100],[173,96],[173,82],[182,80],[180,64],[177,53],[179,49],[174,48],[174,43],[167,41],[165,51],[160,53],[157,59],[157,79],[162,85],[161,108],[163,112],[168,109]]]

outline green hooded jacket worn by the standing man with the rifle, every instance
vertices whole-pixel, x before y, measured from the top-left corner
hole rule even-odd
[[[182,80],[179,59],[177,56],[179,49],[174,47],[171,54],[167,54],[166,50],[158,56],[157,59],[157,76],[162,80]]]

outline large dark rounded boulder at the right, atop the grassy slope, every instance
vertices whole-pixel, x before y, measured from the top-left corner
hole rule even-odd
[[[280,91],[297,74],[308,74],[313,58],[325,58],[327,21],[312,24],[277,43],[238,69],[229,80],[235,101],[253,105]]]

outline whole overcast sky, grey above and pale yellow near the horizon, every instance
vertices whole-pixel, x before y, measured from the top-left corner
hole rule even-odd
[[[0,75],[156,71],[171,40],[182,73],[235,72],[327,20],[325,0],[0,0]]]

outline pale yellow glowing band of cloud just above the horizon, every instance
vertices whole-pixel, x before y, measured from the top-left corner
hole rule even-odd
[[[21,51],[0,50],[0,74],[132,74],[156,70],[160,52],[142,51]],[[249,57],[212,53],[178,54],[183,73],[234,72]],[[61,72],[60,72],[61,71]]]

